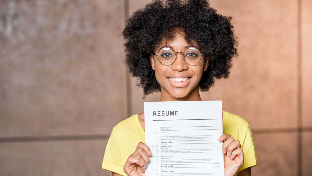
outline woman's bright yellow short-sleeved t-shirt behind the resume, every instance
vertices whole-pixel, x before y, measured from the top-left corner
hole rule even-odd
[[[255,145],[248,123],[240,116],[223,111],[223,134],[230,134],[241,142],[244,151],[244,164],[237,172],[258,165]],[[126,176],[124,164],[134,153],[139,142],[145,143],[145,133],[138,118],[133,115],[114,128],[108,139],[102,168]]]

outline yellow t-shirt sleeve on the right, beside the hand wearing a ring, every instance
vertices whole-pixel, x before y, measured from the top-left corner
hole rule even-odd
[[[244,164],[241,166],[241,168],[238,169],[237,172],[245,168],[254,167],[258,165],[255,144],[249,126],[246,132],[244,142],[241,146],[244,152]]]

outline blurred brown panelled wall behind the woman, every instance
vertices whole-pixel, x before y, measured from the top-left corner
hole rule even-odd
[[[0,175],[104,175],[110,132],[143,111],[125,20],[147,0],[0,0]],[[246,119],[252,175],[312,175],[312,1],[211,0],[239,56],[203,100]],[[181,12],[183,13],[183,12]]]

